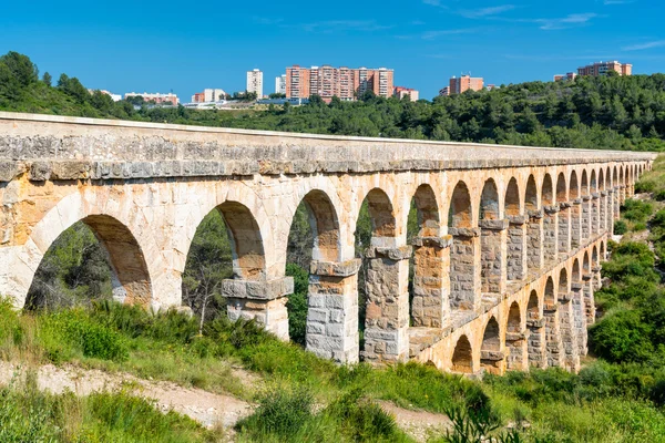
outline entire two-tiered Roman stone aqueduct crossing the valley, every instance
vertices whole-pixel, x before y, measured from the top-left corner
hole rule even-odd
[[[0,113],[0,293],[17,307],[76,222],[105,247],[119,299],[177,307],[196,228],[219,210],[234,257],[228,315],[286,339],[287,240],[305,202],[310,351],[502,373],[579,369],[610,233],[654,155]],[[412,199],[420,231],[407,244]],[[364,202],[372,238],[359,349]]]

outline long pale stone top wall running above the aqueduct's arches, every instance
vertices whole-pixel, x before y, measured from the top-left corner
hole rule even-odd
[[[653,159],[648,153],[364,138],[0,112],[1,181],[21,161],[58,178],[371,173]],[[7,162],[11,161],[11,162]],[[72,168],[82,162],[81,171]],[[168,163],[174,162],[174,163]]]

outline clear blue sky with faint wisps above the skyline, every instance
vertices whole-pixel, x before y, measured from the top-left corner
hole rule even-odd
[[[245,89],[264,92],[287,65],[387,66],[396,84],[431,99],[451,75],[487,83],[551,80],[598,60],[665,72],[658,0],[7,1],[0,53],[40,72],[115,93]]]

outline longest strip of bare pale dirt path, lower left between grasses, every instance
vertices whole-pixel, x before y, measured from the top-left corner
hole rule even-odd
[[[0,385],[9,384],[24,374],[17,364],[0,361]],[[232,395],[215,394],[196,388],[183,388],[165,381],[142,380],[126,373],[109,373],[73,365],[45,364],[38,369],[39,389],[53,393],[72,391],[76,395],[93,392],[129,390],[132,394],[156,401],[162,411],[173,410],[187,415],[204,426],[222,424],[232,427],[252,412],[252,405]]]

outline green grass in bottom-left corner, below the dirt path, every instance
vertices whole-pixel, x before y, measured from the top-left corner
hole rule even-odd
[[[39,391],[34,374],[0,388],[1,442],[213,442],[208,431],[175,412],[162,413],[126,392],[75,396]]]

